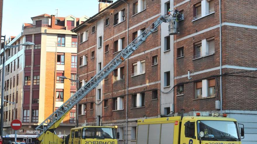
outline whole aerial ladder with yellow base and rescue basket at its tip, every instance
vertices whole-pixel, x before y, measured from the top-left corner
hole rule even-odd
[[[173,15],[167,13],[161,15],[154,21],[143,33],[141,33],[135,40],[133,40],[127,47],[125,47],[117,56],[115,56],[102,70],[100,70],[94,77],[92,77],[84,86],[72,95],[66,102],[64,102],[55,112],[53,112],[46,120],[44,120],[38,127],[36,127],[37,138],[44,144],[63,143],[62,138],[55,134],[55,129],[60,125],[65,116],[70,110],[91,90],[96,88],[98,84],[108,76],[115,68],[117,68],[126,58],[128,58],[154,31],[162,22],[169,22],[169,34],[174,35],[178,32],[176,22],[181,19],[178,11],[174,11]]]

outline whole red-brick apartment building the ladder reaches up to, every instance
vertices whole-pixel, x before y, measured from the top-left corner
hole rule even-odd
[[[221,1],[220,23],[219,0],[118,0],[73,30],[80,86],[169,8],[184,16],[179,33],[161,24],[81,100],[79,125],[118,125],[119,143],[135,143],[139,118],[216,111],[245,124],[244,144],[256,142],[254,1]]]

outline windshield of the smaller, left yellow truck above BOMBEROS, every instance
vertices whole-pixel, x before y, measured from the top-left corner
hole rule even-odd
[[[115,138],[114,128],[106,127],[84,127],[82,130],[82,138]]]

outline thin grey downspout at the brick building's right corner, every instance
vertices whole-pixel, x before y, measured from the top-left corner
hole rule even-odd
[[[219,0],[219,8],[220,8],[220,112],[222,113],[222,52],[221,52],[221,0]]]

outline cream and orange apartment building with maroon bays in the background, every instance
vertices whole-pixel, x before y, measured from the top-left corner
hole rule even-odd
[[[76,92],[76,82],[60,79],[59,76],[76,79],[77,34],[71,32],[88,17],[55,17],[38,15],[32,24],[24,23],[22,32],[8,45],[26,41],[33,46],[6,49],[4,99],[16,104],[4,103],[4,135],[14,134],[10,124],[15,118],[22,121],[18,134],[35,134],[35,127]],[[1,49],[3,53],[3,49]],[[2,65],[2,58],[1,58]],[[69,134],[75,126],[75,108],[67,115],[56,134]],[[36,135],[20,138],[35,142]]]

